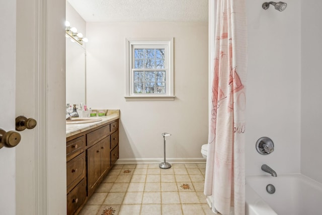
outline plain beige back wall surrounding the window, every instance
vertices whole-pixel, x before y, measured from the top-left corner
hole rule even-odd
[[[120,161],[193,160],[208,135],[208,23],[87,23],[88,107],[120,109]],[[174,37],[175,101],[125,101],[126,38]],[[156,160],[155,160],[156,159]],[[201,160],[204,161],[204,160]]]

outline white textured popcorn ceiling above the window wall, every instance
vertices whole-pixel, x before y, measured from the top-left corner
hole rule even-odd
[[[86,22],[208,21],[208,0],[67,0]]]

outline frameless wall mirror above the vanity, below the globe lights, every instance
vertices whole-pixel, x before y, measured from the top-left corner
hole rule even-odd
[[[66,37],[66,103],[86,104],[85,48]]]

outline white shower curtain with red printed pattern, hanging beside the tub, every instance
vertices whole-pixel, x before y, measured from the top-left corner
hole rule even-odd
[[[245,214],[246,0],[217,0],[215,8],[204,194],[221,214],[238,215]]]

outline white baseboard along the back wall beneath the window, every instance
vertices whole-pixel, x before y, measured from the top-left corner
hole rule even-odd
[[[206,163],[204,158],[168,158],[169,163]],[[116,164],[157,164],[164,162],[163,158],[134,158],[134,159],[118,159]]]

